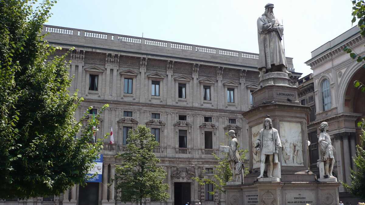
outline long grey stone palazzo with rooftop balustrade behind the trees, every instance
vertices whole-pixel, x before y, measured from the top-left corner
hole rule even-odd
[[[229,130],[235,131],[240,149],[248,149],[247,121],[241,114],[254,104],[251,93],[260,86],[258,54],[45,25],[46,33],[50,45],[63,48],[54,55],[75,47],[69,54],[70,92],[78,90],[85,99],[76,120],[89,106],[92,114],[108,103],[96,138],[113,127],[115,143],[104,141],[101,183],[76,185],[61,196],[31,199],[34,203],[124,204],[110,180],[120,162],[115,154],[128,151],[128,130],[143,124],[160,143],[154,153],[167,172],[170,193],[167,202],[147,198],[147,205],[226,204],[224,194],[209,194],[213,187],[192,177],[212,177],[217,163],[212,153],[222,156],[219,146],[228,144]],[[295,73],[292,58],[287,62],[294,84],[301,73]]]

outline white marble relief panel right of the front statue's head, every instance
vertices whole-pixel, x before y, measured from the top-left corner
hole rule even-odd
[[[304,166],[301,123],[280,121],[283,166]]]

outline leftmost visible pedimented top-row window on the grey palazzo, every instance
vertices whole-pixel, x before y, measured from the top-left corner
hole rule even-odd
[[[84,70],[86,73],[85,95],[96,94],[101,97],[104,69],[99,66],[88,66]]]

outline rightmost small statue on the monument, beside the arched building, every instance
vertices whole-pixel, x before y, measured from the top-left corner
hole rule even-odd
[[[335,157],[333,155],[333,147],[331,144],[331,137],[327,134],[328,123],[322,122],[319,126],[321,133],[318,138],[319,145],[319,162],[324,162],[324,178],[335,178],[332,175]],[[321,176],[322,177],[322,176]]]

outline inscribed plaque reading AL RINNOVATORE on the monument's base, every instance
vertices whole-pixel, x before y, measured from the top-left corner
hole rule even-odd
[[[286,205],[315,205],[315,193],[310,191],[300,192],[286,192],[285,193],[285,204]]]

